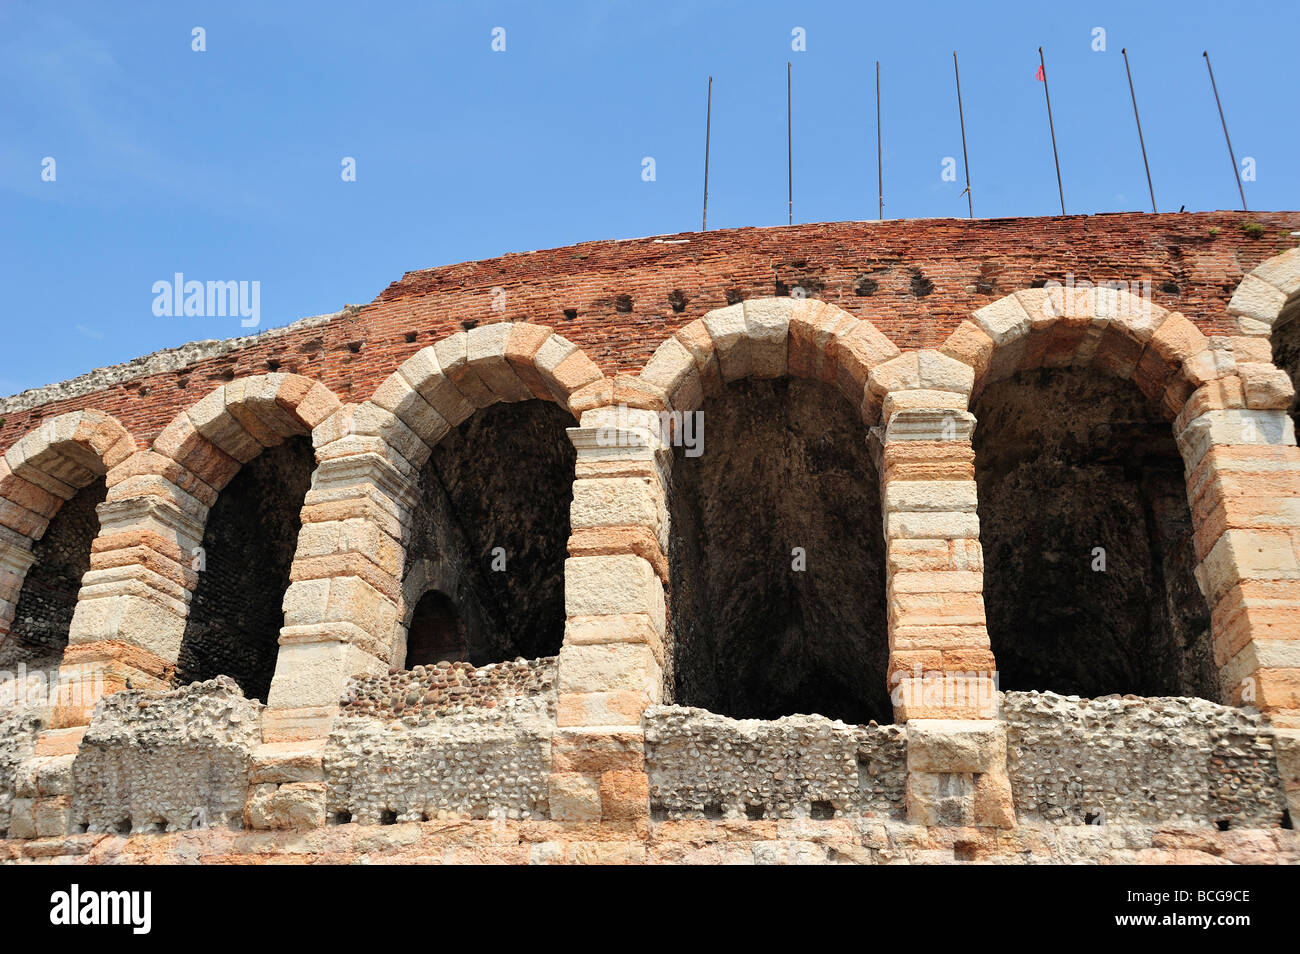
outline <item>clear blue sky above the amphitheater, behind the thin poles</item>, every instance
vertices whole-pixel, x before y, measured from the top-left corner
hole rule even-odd
[[[1039,44],[1070,212],[1148,208],[1124,45],[1162,212],[1238,207],[1206,47],[1251,208],[1294,209],[1297,36],[1294,0],[0,0],[0,394],[244,333],[155,317],[176,272],[260,282],[266,329],[408,269],[698,229],[708,74],[708,224],[783,225],[786,60],[797,222],[876,216],[878,58],[885,216],[966,214],[953,49],[975,213],[1057,213]]]

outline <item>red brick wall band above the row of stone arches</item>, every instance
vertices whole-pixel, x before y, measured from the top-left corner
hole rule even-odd
[[[1245,222],[1265,226],[1264,234],[1248,235]],[[551,325],[606,373],[634,372],[659,342],[728,296],[766,298],[796,285],[870,318],[902,348],[935,346],[976,308],[1034,283],[1063,281],[1067,272],[1092,282],[1150,279],[1157,304],[1206,334],[1234,334],[1226,313],[1232,291],[1252,268],[1300,242],[1292,230],[1300,230],[1300,212],[928,218],[682,233],[507,255],[411,272],[356,315],[326,326],[6,413],[0,451],[42,420],[86,407],[112,413],[148,443],[213,387],[270,369],[304,374],[343,400],[361,402],[406,357],[463,321]],[[871,295],[859,294],[864,278],[876,282]],[[932,291],[919,295],[927,283]],[[506,290],[504,312],[491,309],[498,286]],[[681,311],[670,304],[677,291],[685,298]],[[568,308],[576,309],[572,320]]]

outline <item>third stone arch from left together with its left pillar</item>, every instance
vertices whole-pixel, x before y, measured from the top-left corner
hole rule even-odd
[[[506,321],[417,351],[369,400],[325,421],[285,597],[268,738],[277,719],[332,711],[348,676],[380,672],[404,654],[420,597],[403,593],[420,473],[452,429],[502,403],[540,399],[577,417],[611,398],[608,380],[576,344],[545,325]]]

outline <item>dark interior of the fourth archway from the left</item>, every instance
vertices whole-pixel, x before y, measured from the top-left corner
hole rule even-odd
[[[893,721],[880,489],[858,409],[783,378],[728,385],[702,413],[703,454],[673,452],[670,695],[737,719]]]

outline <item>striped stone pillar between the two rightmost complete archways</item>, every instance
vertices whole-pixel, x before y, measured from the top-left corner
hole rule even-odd
[[[1015,824],[984,615],[974,372],[935,351],[872,370],[889,606],[889,689],[907,724],[907,818]]]

